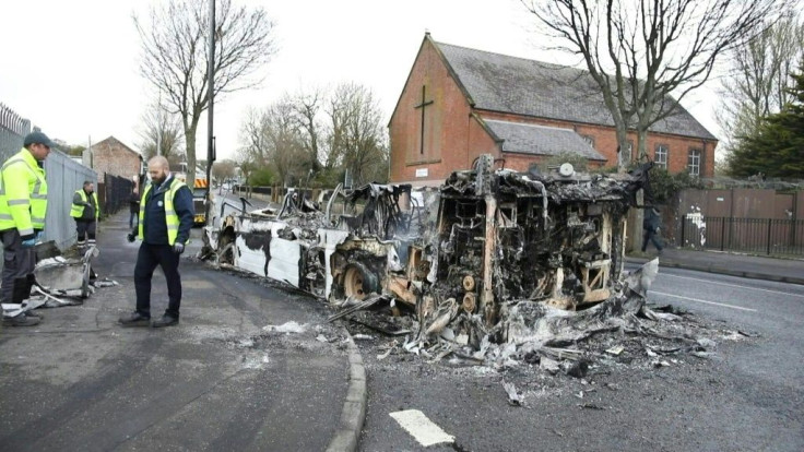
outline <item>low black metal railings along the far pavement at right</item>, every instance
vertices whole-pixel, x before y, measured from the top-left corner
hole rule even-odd
[[[804,255],[804,221],[684,215],[681,245],[769,255]]]

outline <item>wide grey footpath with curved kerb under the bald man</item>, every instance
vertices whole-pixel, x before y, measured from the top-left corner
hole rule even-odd
[[[0,450],[354,450],[365,370],[354,343],[310,297],[196,261],[180,263],[180,323],[121,328],[133,311],[139,242],[128,213],[99,226],[99,277],[81,306],[39,309],[0,330]],[[153,277],[152,316],[167,288]]]

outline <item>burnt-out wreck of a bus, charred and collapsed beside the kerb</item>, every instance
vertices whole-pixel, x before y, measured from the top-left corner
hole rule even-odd
[[[551,372],[570,360],[577,373],[574,344],[614,331],[705,352],[655,328],[681,319],[646,307],[658,261],[624,271],[626,217],[640,189],[651,199],[651,165],[518,173],[482,155],[439,189],[339,187],[316,202],[292,191],[280,209],[222,209],[202,255],[326,299],[331,320],[404,335],[400,350],[430,360]]]

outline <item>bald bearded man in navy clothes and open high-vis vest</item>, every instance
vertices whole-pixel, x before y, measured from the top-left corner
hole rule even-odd
[[[190,238],[193,206],[192,192],[170,174],[167,159],[162,156],[147,163],[151,183],[142,190],[140,200],[140,224],[138,234],[132,230],[128,240],[137,237],[142,240],[134,266],[134,287],[137,309],[121,317],[123,326],[170,326],[179,322],[181,304],[181,277],[179,276],[179,255]],[[151,321],[151,277],[162,266],[167,279],[167,309],[161,319]]]

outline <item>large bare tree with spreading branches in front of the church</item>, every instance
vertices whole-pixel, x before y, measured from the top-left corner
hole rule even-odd
[[[583,59],[620,150],[677,111],[721,55],[753,38],[787,0],[521,0],[559,48]],[[673,95],[674,97],[671,97]],[[630,158],[620,152],[618,166]]]

